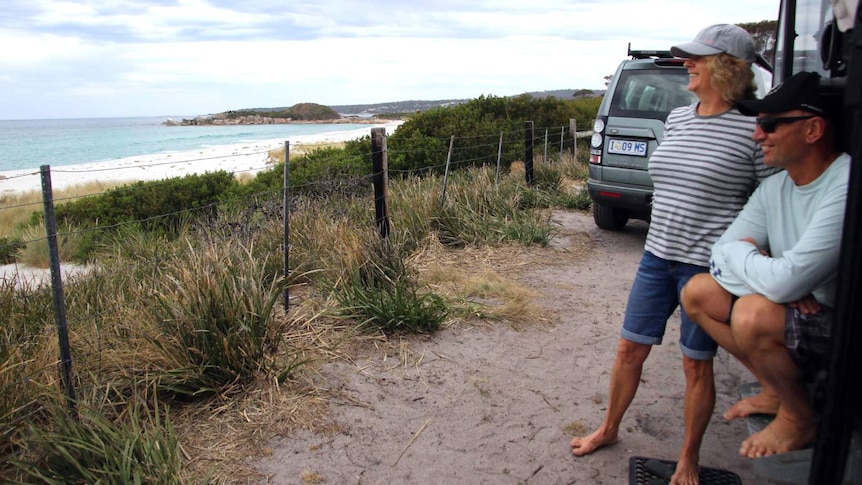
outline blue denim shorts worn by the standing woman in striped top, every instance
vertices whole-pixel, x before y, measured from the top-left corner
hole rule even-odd
[[[629,292],[622,337],[639,344],[658,345],[664,337],[667,320],[680,307],[679,295],[688,280],[709,270],[706,266],[668,261],[644,251],[635,281]],[[680,307],[682,325],[679,345],[691,359],[709,360],[718,344]]]

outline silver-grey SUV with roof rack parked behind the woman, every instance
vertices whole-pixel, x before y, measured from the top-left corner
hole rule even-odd
[[[629,219],[649,222],[652,181],[647,161],[661,143],[664,121],[679,106],[697,101],[688,90],[685,59],[670,51],[633,51],[620,63],[608,86],[590,140],[587,188],[593,219],[602,229],[618,231]],[[753,66],[757,95],[772,83],[766,68]]]

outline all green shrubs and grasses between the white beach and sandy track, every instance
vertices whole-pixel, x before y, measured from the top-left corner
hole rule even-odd
[[[388,140],[397,171],[386,239],[374,226],[369,137],[291,158],[287,277],[283,165],[242,183],[215,172],[63,201],[56,214],[64,254],[94,268],[65,288],[78,415],[65,409],[57,375],[50,292],[0,282],[0,477],[254,477],[248,450],[319,419],[303,414],[325,401],[310,371],[342,356],[343,344],[464,321],[535,321],[514,282],[436,261],[481,248],[502,258],[513,246],[544,247],[555,231],[547,208],[587,208],[586,150],[578,160],[568,150],[537,160],[532,186],[520,157],[526,120],[568,126],[574,117],[586,126],[597,103],[482,97],[416,114]],[[462,146],[441,197],[441,140],[496,140],[500,132],[512,140],[502,171],[470,158],[480,147]],[[496,141],[489,146],[484,151],[496,156]],[[27,232],[43,231],[39,224],[29,213],[5,221],[0,254],[44,251]],[[231,446],[183,445],[201,436]]]

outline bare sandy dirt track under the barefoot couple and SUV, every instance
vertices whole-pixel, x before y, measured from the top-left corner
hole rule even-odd
[[[646,225],[597,229],[589,214],[557,212],[554,245],[586,242],[587,258],[525,267],[548,322],[454,326],[411,337],[397,352],[369,351],[327,364],[321,378],[346,396],[332,407],[337,431],[297,431],[253,463],[274,484],[624,484],[633,456],[675,460],[682,443],[684,379],[679,317],[647,360],[620,442],[585,457],[575,434],[601,422],[611,364]],[[574,253],[574,251],[572,251]],[[701,465],[755,475],[737,454],[745,423],[721,413],[751,380],[727,353],[715,361],[717,404]]]

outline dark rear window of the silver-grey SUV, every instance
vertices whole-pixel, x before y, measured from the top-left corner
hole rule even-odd
[[[687,86],[688,72],[684,69],[623,71],[608,114],[664,121],[672,109],[697,101],[694,93],[686,89]]]

